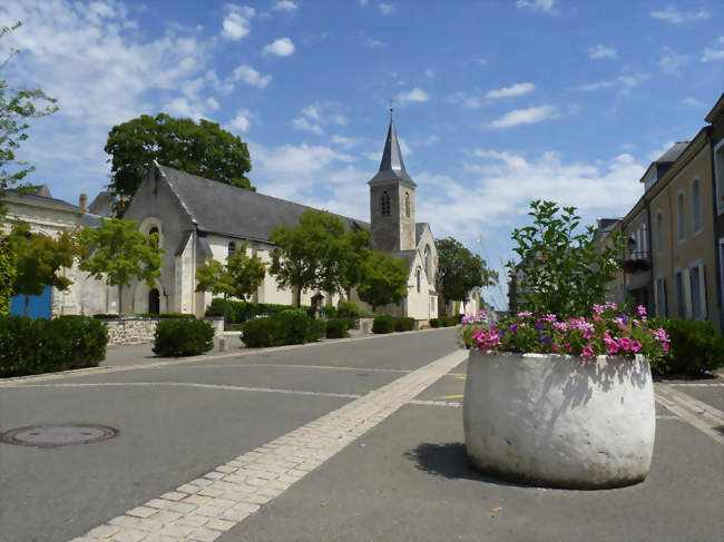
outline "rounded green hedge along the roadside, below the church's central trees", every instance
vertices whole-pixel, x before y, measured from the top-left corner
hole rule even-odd
[[[251,348],[311,343],[324,333],[324,321],[310,317],[304,309],[287,309],[242,325],[242,341]]]

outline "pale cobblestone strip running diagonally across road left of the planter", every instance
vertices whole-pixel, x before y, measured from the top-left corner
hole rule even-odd
[[[460,364],[457,351],[217,466],[89,531],[72,542],[209,542]]]

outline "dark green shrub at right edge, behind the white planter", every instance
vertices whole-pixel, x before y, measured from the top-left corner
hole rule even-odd
[[[724,367],[724,335],[711,322],[668,319],[663,327],[671,339],[667,355],[652,364],[659,374],[701,375]]]

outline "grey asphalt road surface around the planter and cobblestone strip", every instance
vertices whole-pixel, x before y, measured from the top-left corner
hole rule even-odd
[[[454,351],[452,329],[169,364],[129,348],[128,358],[109,356],[117,369],[0,387],[0,432],[60,422],[119,430],[87,445],[0,444],[0,540],[80,536]],[[657,404],[644,483],[509,484],[466,461],[464,372],[464,363],[448,371],[218,540],[724,540],[724,444],[712,432]],[[724,378],[666,385],[697,400],[693,408],[721,407]]]

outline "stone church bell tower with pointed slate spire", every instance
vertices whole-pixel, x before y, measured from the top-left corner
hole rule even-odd
[[[380,170],[370,185],[372,248],[385,253],[414,250],[414,188],[404,169],[398,134],[390,108],[390,128]]]

